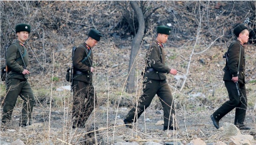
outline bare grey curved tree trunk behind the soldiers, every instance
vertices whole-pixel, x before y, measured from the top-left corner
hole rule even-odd
[[[129,69],[128,69],[129,74],[128,74],[128,82],[126,86],[126,92],[133,93],[134,86],[135,86],[134,85],[134,80],[135,80],[134,62],[135,62],[135,57],[140,49],[140,43],[143,38],[143,33],[145,30],[145,20],[144,20],[143,12],[140,9],[140,6],[138,5],[137,1],[130,1],[130,4],[139,22],[139,28],[138,28],[137,34],[131,43],[131,55],[130,55],[130,62],[129,62]]]

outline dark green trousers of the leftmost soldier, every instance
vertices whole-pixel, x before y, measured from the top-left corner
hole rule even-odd
[[[8,89],[6,91],[2,120],[10,120],[12,118],[13,108],[15,107],[18,96],[20,96],[24,100],[21,110],[21,123],[28,123],[28,119],[32,119],[32,111],[35,104],[35,97],[29,82],[27,80],[10,78],[8,79]]]

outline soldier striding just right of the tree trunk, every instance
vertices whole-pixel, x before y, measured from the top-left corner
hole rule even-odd
[[[136,122],[140,115],[148,108],[152,99],[157,94],[163,105],[164,130],[173,130],[173,117],[175,114],[172,92],[166,82],[165,74],[176,75],[177,71],[165,65],[165,52],[162,43],[166,43],[171,28],[166,26],[157,27],[157,38],[151,44],[146,54],[146,64],[143,82],[143,94],[141,95],[138,105],[134,106],[124,119],[126,127],[132,128],[131,122]],[[171,109],[172,107],[172,109]],[[137,109],[136,109],[137,108]]]

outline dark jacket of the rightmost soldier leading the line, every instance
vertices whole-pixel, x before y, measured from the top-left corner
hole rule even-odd
[[[241,56],[240,56],[240,71],[238,74],[238,63],[239,63],[239,53],[240,53],[240,47],[241,47]],[[245,68],[245,52],[244,52],[244,46],[241,45],[241,42],[239,40],[236,40],[236,42],[231,43],[228,50],[228,63],[225,67],[227,67],[227,71],[224,73],[223,80],[232,81],[232,77],[238,76],[238,82],[245,83],[245,74],[243,71],[241,71],[243,68]]]

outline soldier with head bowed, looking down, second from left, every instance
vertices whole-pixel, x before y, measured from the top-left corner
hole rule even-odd
[[[92,47],[98,43],[102,34],[96,29],[91,29],[88,38],[81,43],[74,53],[73,66],[73,128],[84,128],[84,124],[94,106],[97,103],[97,96],[93,87],[93,52]],[[82,60],[84,60],[82,62]]]

